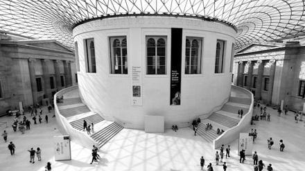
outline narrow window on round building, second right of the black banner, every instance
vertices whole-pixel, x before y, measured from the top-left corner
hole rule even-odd
[[[215,60],[215,73],[223,73],[223,57],[225,52],[225,41],[217,40],[216,44],[216,60]]]

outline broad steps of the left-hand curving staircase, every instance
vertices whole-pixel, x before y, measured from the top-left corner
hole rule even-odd
[[[83,130],[84,120],[87,125],[94,123],[94,132],[88,136],[98,142],[99,148],[123,130],[121,125],[112,121],[105,121],[101,115],[91,112],[87,105],[82,103],[80,97],[64,98],[63,103],[57,104],[60,114],[69,121],[74,129]],[[87,134],[87,132],[84,133]]]

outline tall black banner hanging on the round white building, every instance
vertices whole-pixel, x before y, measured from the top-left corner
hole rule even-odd
[[[171,29],[171,105],[180,105],[182,28]]]

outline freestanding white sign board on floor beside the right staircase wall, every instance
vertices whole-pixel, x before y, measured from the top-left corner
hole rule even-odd
[[[245,155],[252,155],[253,137],[249,133],[240,133],[238,139],[238,155],[245,150]]]

